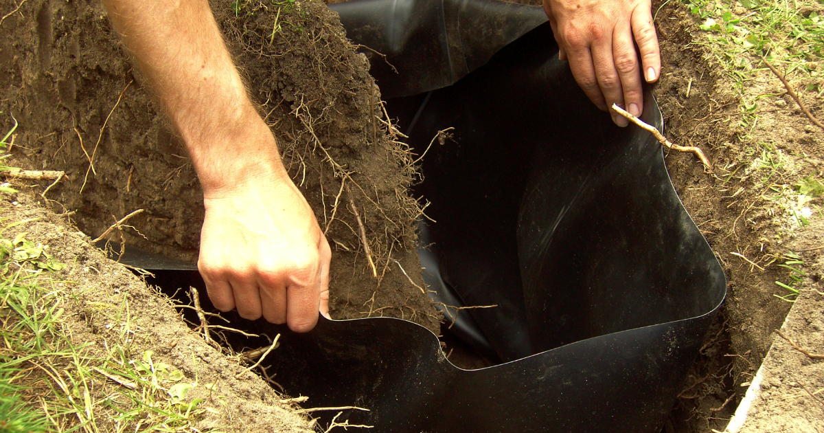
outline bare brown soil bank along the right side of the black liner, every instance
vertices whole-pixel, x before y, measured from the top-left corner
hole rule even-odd
[[[656,3],[653,11],[662,2]],[[667,168],[686,209],[728,277],[723,311],[708,333],[671,423],[667,423],[667,432],[723,431],[747,389],[742,385],[749,384],[756,374],[775,338],[774,330],[781,327],[792,305],[775,296],[788,293],[775,284],[789,282],[789,271],[778,265],[789,260],[787,253],[805,247],[799,247],[795,240],[799,224],[787,223],[787,215],[775,204],[785,200],[782,196],[798,181],[807,176],[820,179],[824,174],[819,159],[824,155],[822,131],[812,127],[794,101],[785,96],[780,81],[755,64],[755,58],[753,64],[742,68],[754,80],[746,87],[737,87],[726,67],[701,43],[705,37],[685,6],[667,2],[658,12],[656,24],[663,69],[655,95],[667,136],[677,144],[704,149],[714,164],[713,172],[708,173],[692,155],[671,153]],[[749,123],[742,121],[741,93],[736,88],[747,96],[765,96],[755,113],[757,121],[754,115],[745,118]],[[815,92],[808,96],[816,98],[808,99],[809,106],[820,106],[820,96]],[[777,155],[776,159],[782,155],[802,158],[798,158],[800,162],[784,158],[780,167],[770,172],[754,161],[763,157],[763,152]],[[815,208],[822,200],[812,198],[807,205]],[[821,224],[812,224],[803,233],[821,236],[824,229]],[[821,275],[821,263],[809,260],[808,253],[802,254],[802,260],[808,274]],[[808,280],[801,290],[810,284],[814,282]],[[824,378],[817,378],[816,385],[816,389],[822,388]]]

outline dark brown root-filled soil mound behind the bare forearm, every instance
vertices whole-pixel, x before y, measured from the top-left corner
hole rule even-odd
[[[331,315],[407,318],[439,333],[438,313],[419,289],[420,209],[407,194],[417,173],[386,126],[367,60],[321,2],[241,4],[235,12],[232,3],[215,1],[213,10],[284,164],[328,228]],[[129,220],[134,229],[124,232],[125,242],[196,261],[204,218],[197,177],[100,2],[30,0],[0,28],[7,35],[0,111],[20,122],[12,165],[65,171],[50,203],[76,212],[85,233],[99,235],[144,209]],[[350,198],[379,278],[363,253]]]

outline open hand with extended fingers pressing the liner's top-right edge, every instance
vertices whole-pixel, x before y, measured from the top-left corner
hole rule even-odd
[[[569,59],[575,81],[589,99],[609,110],[619,126],[628,120],[608,108],[613,103],[641,115],[642,75],[655,82],[661,72],[650,0],[544,0],[544,11],[558,41],[559,59]]]

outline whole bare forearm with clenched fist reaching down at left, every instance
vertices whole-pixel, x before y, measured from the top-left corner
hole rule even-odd
[[[104,2],[203,186],[198,267],[209,298],[244,318],[309,331],[318,311],[328,311],[329,244],[246,94],[208,1]]]

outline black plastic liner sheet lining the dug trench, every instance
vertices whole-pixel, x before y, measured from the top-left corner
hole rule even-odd
[[[449,332],[503,364],[459,369],[412,322],[321,318],[283,328],[266,360],[279,384],[312,407],[368,408],[338,421],[373,432],[659,431],[726,294],[661,145],[588,101],[541,8],[333,9],[386,54],[372,74],[416,153],[454,128],[415,191],[437,221],[422,224],[424,276],[443,304],[498,305],[461,310]],[[662,129],[649,91],[642,118]]]

